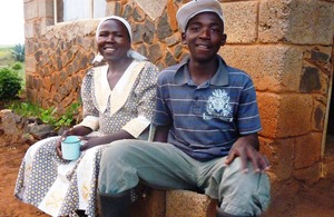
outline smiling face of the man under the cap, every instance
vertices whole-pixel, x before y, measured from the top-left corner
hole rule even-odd
[[[181,37],[190,57],[200,62],[215,58],[226,42],[223,21],[214,12],[203,12],[191,18]]]

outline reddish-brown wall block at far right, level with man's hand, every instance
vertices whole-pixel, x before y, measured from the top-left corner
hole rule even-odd
[[[295,139],[295,169],[311,167],[320,161],[322,136],[321,132],[310,132]]]

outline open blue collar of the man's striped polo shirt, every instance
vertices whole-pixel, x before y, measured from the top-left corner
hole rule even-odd
[[[210,85],[214,86],[227,86],[228,85],[228,71],[227,65],[224,59],[217,55],[218,59],[218,69],[215,76],[209,80]],[[176,69],[174,80],[178,85],[194,83],[190,79],[188,70],[189,56],[185,57]]]

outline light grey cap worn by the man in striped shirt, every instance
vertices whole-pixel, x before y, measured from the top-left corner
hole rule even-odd
[[[185,32],[188,21],[202,12],[215,12],[224,23],[223,10],[217,0],[193,0],[180,7],[176,13],[180,30]]]

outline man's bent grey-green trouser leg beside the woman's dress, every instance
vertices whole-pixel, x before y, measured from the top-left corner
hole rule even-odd
[[[149,142],[140,140],[119,140],[105,149],[100,164],[98,195],[104,216],[111,211],[121,211],[120,206],[114,210],[107,204],[120,203],[116,198],[135,188],[139,181],[151,187],[165,189],[196,189],[195,162],[186,154],[169,144]],[[130,201],[124,197],[122,206]],[[120,210],[116,210],[120,209]]]

